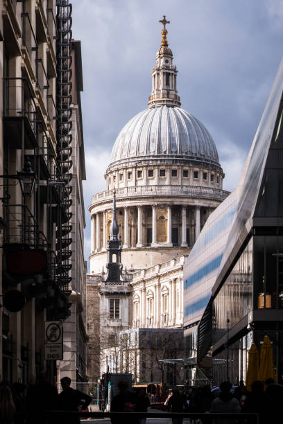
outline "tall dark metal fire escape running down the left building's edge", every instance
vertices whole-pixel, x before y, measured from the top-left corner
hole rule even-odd
[[[69,208],[72,204],[70,198],[72,187],[70,185],[72,175],[70,169],[71,161],[71,4],[69,0],[58,0],[56,2],[56,59],[57,59],[57,79],[56,79],[56,107],[58,116],[56,119],[56,139],[57,139],[57,180],[61,180],[64,185],[62,195],[64,200],[62,209],[58,209],[58,225],[56,231],[56,251],[58,255],[58,265],[56,266],[56,280],[63,292],[68,294],[69,283],[71,283],[71,264],[69,258],[72,251],[71,245],[71,212]],[[69,312],[69,311],[68,311]]]

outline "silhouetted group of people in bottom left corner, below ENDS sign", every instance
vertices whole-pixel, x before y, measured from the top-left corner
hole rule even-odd
[[[38,424],[44,423],[48,411],[78,412],[86,409],[92,397],[71,388],[71,379],[61,379],[62,391],[51,385],[45,373],[40,373],[36,385],[23,385],[6,381],[0,383],[0,423]],[[79,424],[78,416],[69,417],[68,424]]]

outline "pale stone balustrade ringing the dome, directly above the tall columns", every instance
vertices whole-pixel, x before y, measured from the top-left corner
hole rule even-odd
[[[112,199],[114,190],[106,190],[92,196],[92,203]],[[205,197],[207,199],[224,200],[230,194],[229,191],[213,187],[199,186],[136,186],[116,189],[117,199],[132,196],[162,196],[162,195],[183,195],[186,197]]]

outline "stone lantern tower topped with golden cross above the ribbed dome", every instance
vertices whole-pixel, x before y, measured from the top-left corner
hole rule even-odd
[[[156,53],[156,64],[152,71],[152,91],[148,99],[148,107],[158,107],[162,105],[180,107],[180,97],[178,96],[177,87],[177,69],[173,65],[173,54],[171,48],[168,47],[166,35],[166,24],[170,21],[166,20],[166,16],[160,20],[163,24],[161,31],[162,40],[159,50]]]

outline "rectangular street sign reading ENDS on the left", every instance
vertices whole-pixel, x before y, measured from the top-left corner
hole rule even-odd
[[[63,359],[62,321],[45,321],[44,358],[46,361]]]

